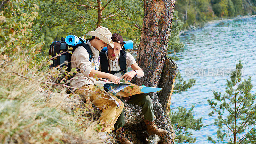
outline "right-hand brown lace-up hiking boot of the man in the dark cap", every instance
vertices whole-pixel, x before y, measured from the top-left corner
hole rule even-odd
[[[156,127],[155,121],[151,122],[151,121],[148,121],[148,120],[145,120],[145,119],[143,119],[143,121],[147,125],[148,136],[152,135],[152,134],[156,134],[158,136],[164,136],[165,134],[168,133],[167,130],[159,129],[158,127]]]

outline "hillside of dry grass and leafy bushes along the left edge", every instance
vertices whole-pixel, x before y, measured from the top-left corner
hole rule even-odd
[[[77,99],[46,83],[61,73],[42,55],[38,6],[23,3],[0,11],[0,143],[111,143],[98,137],[102,125],[86,108],[72,106]]]

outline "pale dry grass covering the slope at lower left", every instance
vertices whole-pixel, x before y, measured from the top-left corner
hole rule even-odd
[[[53,95],[42,91],[47,74],[35,73],[33,67],[25,70],[20,63],[21,59],[8,60],[0,55],[2,143],[103,142],[94,130],[97,122],[86,117],[83,108],[68,113],[61,92]]]

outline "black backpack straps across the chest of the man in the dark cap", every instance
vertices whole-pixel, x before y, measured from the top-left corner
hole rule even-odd
[[[119,57],[119,65],[120,65],[120,69],[119,71],[111,71],[110,74],[114,75],[115,73],[119,73],[121,72],[121,75],[123,76],[126,72],[126,52],[124,50],[120,51],[120,57]],[[108,71],[108,59],[107,56],[105,54],[105,52],[101,51],[99,54],[100,57],[100,67],[101,67],[101,71],[105,72],[105,73],[109,73]]]

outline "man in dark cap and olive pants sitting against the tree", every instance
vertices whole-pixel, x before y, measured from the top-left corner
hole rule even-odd
[[[123,51],[125,44],[121,35],[114,33],[111,39],[114,42],[114,47],[108,45],[108,50],[106,52],[100,52],[100,71],[110,73],[120,79],[131,81],[134,76],[140,78],[144,76],[143,70],[136,63],[135,59],[130,53]],[[128,72],[128,67],[132,68],[132,71]],[[135,104],[142,106],[142,112],[144,115],[143,121],[147,125],[148,135],[156,134],[163,136],[168,133],[167,130],[159,129],[154,124],[155,115],[153,110],[153,104],[151,98],[143,93],[136,94],[131,97],[120,98],[123,103]],[[117,139],[124,144],[131,144],[124,135],[124,108],[122,113],[118,117],[115,126],[115,134]]]

